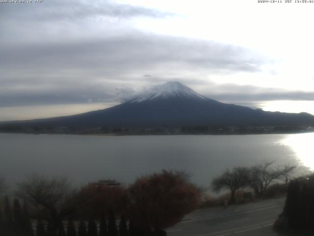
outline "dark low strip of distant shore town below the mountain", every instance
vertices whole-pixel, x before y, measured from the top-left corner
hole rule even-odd
[[[94,135],[184,135],[184,134],[290,134],[314,132],[313,126],[153,126],[153,127],[75,127],[25,126],[0,127],[2,133],[26,134],[94,134]]]

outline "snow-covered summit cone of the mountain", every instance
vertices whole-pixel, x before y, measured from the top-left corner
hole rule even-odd
[[[186,87],[180,82],[167,82],[163,85],[159,85],[151,89],[150,92],[145,95],[134,99],[132,102],[142,102],[142,101],[151,101],[160,98],[171,98],[171,97],[181,97],[181,98],[198,98],[206,99],[206,97],[198,94],[192,89]]]

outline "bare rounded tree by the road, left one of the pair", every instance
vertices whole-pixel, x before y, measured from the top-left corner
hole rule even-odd
[[[231,171],[227,169],[221,176],[211,181],[212,190],[219,192],[221,189],[231,191],[231,203],[235,203],[235,190],[246,187],[250,170],[246,167],[235,167]]]

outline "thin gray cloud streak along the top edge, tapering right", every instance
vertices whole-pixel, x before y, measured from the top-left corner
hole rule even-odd
[[[86,20],[89,17],[154,17],[173,16],[173,13],[155,9],[119,4],[111,0],[53,0],[42,3],[1,4],[1,19],[42,21]],[[14,17],[14,18],[13,18]],[[21,22],[23,24],[23,22]]]

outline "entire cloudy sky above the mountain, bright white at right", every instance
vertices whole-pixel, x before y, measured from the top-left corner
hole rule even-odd
[[[314,114],[313,12],[257,0],[0,3],[0,120],[103,109],[167,81]]]

